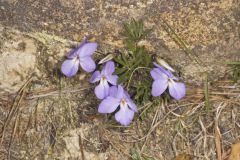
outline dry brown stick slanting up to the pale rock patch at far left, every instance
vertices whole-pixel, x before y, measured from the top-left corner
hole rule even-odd
[[[11,110],[10,112],[8,113],[7,115],[7,118],[4,122],[4,125],[2,127],[2,131],[1,131],[1,144],[3,143],[3,138],[4,138],[4,134],[5,134],[5,129],[6,129],[6,126],[9,124],[9,122],[11,121],[14,113],[16,112],[19,104],[21,103],[22,99],[23,99],[23,96],[24,96],[24,90],[25,88],[27,87],[27,85],[32,81],[32,77],[30,77],[26,83],[20,88],[20,90],[18,91],[18,94],[16,95],[15,99],[14,99],[14,102],[12,104],[12,107],[11,107]]]

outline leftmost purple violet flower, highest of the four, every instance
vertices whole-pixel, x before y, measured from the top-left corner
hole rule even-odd
[[[91,56],[96,49],[97,43],[87,42],[84,38],[79,47],[69,52],[68,59],[61,66],[62,73],[67,77],[72,77],[77,73],[79,65],[86,72],[94,71],[96,64]]]

